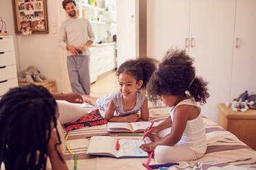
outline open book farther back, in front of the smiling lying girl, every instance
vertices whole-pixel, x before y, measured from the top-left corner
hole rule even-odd
[[[109,122],[107,123],[107,132],[130,132],[140,133],[151,125],[150,121],[137,121],[137,122]]]

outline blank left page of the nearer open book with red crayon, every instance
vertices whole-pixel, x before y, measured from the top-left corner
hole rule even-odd
[[[111,136],[92,136],[86,154],[117,157],[116,138]]]

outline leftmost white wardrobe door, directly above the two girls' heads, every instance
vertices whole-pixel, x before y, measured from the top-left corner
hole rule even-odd
[[[147,1],[147,56],[161,60],[170,48],[185,49],[189,0]]]

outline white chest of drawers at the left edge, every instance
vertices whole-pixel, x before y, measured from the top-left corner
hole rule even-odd
[[[12,36],[0,36],[0,97],[17,87],[17,69]]]

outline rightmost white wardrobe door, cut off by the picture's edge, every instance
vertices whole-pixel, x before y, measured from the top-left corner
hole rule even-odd
[[[231,99],[248,90],[256,94],[256,1],[237,0]]]

